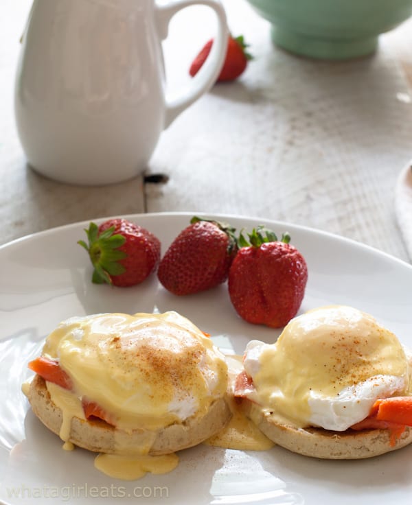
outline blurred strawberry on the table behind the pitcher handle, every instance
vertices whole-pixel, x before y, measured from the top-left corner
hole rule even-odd
[[[207,56],[209,56],[212,45],[213,38],[207,41],[198,56],[194,58],[189,70],[192,77],[196,75],[203,66]],[[244,69],[247,67],[248,60],[252,59],[252,56],[245,51],[246,48],[247,44],[244,43],[242,35],[236,38],[229,36],[226,58],[218,76],[218,82],[233,81],[244,72]]]

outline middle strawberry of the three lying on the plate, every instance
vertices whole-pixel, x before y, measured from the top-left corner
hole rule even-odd
[[[227,279],[237,252],[235,229],[214,220],[192,218],[159,264],[157,277],[178,295],[208,290]]]

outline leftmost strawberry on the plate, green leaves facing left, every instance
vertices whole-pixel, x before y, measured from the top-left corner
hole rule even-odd
[[[89,244],[83,240],[78,244],[87,250],[93,263],[93,283],[131,286],[144,281],[157,268],[160,242],[145,228],[117,218],[100,226],[91,222],[84,231]]]

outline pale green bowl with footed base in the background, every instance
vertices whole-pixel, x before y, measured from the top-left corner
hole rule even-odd
[[[343,60],[375,51],[378,36],[412,14],[412,0],[247,0],[272,23],[273,42],[312,58]]]

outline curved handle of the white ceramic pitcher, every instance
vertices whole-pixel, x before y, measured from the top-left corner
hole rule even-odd
[[[220,0],[173,0],[165,5],[155,5],[155,11],[157,12],[157,27],[161,38],[166,38],[168,36],[168,26],[174,14],[190,5],[207,5],[207,7],[213,9],[218,21],[218,30],[216,36],[214,36],[214,43],[211,47],[209,56],[207,56],[205,64],[203,64],[192,79],[190,89],[173,99],[165,99],[164,128],[168,128],[172,121],[174,121],[185,108],[193,104],[201,95],[211,89],[225,61],[229,30],[227,28],[225,10]]]

